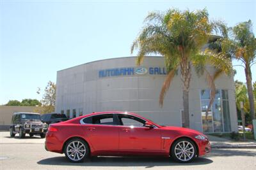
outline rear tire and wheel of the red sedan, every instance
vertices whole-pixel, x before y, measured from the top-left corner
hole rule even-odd
[[[79,138],[73,138],[67,141],[64,153],[68,161],[73,163],[83,162],[90,155],[88,144]]]

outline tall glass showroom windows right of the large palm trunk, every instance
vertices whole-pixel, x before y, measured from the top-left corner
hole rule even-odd
[[[204,132],[230,132],[228,91],[216,90],[214,102],[209,107],[210,90],[201,90],[201,111]]]

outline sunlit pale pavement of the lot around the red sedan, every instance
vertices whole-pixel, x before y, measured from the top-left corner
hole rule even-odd
[[[172,159],[134,157],[94,157],[81,164],[67,162],[64,154],[47,152],[39,136],[10,138],[0,132],[1,169],[255,169],[256,149],[214,149],[189,164]]]

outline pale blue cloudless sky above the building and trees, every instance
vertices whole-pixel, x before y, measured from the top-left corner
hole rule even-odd
[[[132,41],[148,12],[168,8],[207,8],[211,18],[224,20],[228,26],[250,19],[253,32],[256,29],[256,1],[252,0],[0,0],[0,104],[10,99],[40,100],[37,87],[44,89],[47,81],[56,81],[56,71],[60,69],[130,56]],[[245,82],[243,68],[236,69],[235,80]]]

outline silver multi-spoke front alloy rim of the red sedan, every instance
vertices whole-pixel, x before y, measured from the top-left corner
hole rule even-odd
[[[175,156],[182,162],[187,162],[195,155],[195,148],[189,141],[180,141],[174,148]]]

